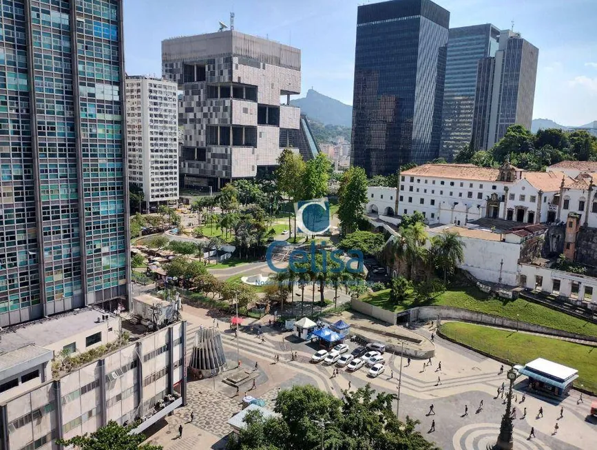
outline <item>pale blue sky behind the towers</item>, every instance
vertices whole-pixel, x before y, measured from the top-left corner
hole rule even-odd
[[[235,29],[302,50],[308,88],[353,100],[357,5],[366,0],[124,0],[129,74],[160,74],[161,41],[218,30],[235,12]],[[375,3],[375,2],[371,2]],[[493,23],[539,48],[534,118],[564,125],[597,121],[596,0],[437,0],[450,26]]]

